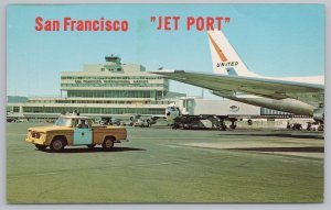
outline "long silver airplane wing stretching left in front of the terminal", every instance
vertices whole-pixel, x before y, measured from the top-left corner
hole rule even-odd
[[[228,75],[186,73],[184,70],[157,70],[151,73],[213,91],[244,92],[271,99],[292,98],[317,107],[324,100],[324,86],[322,85]]]

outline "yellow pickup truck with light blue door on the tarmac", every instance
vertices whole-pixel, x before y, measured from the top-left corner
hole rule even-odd
[[[77,114],[60,115],[53,126],[35,126],[28,130],[25,141],[44,151],[60,152],[65,146],[102,145],[111,150],[115,143],[127,142],[127,131],[119,126],[92,126],[92,119]]]

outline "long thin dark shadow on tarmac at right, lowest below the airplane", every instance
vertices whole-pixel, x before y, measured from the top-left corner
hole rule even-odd
[[[324,147],[247,147],[247,148],[228,148],[236,151],[258,151],[258,152],[289,152],[289,153],[324,153]]]

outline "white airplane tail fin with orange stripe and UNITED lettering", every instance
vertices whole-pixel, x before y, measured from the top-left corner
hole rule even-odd
[[[209,31],[213,71],[218,75],[259,77],[249,71],[222,31]]]

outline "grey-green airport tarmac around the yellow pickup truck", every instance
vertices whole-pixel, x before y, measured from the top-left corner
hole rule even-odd
[[[47,123],[43,123],[49,125]],[[322,132],[128,128],[110,152],[41,152],[7,123],[8,203],[322,202]]]

